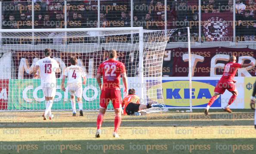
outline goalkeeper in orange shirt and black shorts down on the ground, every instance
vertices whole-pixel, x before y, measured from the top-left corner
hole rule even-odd
[[[140,104],[140,97],[135,95],[135,89],[129,89],[128,95],[122,101],[124,115],[136,115],[137,112],[147,108],[163,108],[162,104]]]

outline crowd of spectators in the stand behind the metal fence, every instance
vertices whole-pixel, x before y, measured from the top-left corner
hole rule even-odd
[[[32,28],[32,3],[34,3],[34,28],[65,28],[64,1],[53,0],[3,0],[2,28]],[[236,36],[242,40],[256,40],[255,0],[235,0]],[[167,29],[190,26],[191,34],[199,34],[198,0],[167,0]],[[96,28],[97,0],[68,0],[67,28]],[[165,29],[164,0],[134,0],[131,17],[130,0],[101,0],[100,27],[143,26],[145,29]],[[233,0],[202,0],[202,16],[212,13],[227,17],[232,23]],[[201,18],[202,24],[206,19]],[[232,26],[232,24],[230,24]],[[181,29],[178,35],[186,33]],[[203,33],[203,32],[202,32]]]

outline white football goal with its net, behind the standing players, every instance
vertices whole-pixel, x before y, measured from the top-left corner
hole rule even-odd
[[[34,79],[32,71],[35,63],[44,58],[45,48],[52,49],[51,58],[59,62],[61,68],[61,73],[56,74],[53,110],[72,109],[68,90],[63,92],[60,88],[62,72],[70,65],[70,56],[78,58],[78,65],[84,69],[87,77],[82,92],[83,109],[99,109],[100,89],[96,72],[100,63],[108,59],[111,49],[117,50],[118,60],[125,64],[128,88],[136,89],[140,103],[164,104],[162,61],[166,43],[174,31],[146,31],[143,28],[0,30],[0,65],[3,67],[0,72],[0,100],[3,100],[0,110],[45,109],[41,80]],[[39,72],[37,74],[40,76]],[[123,96],[122,80],[121,91]],[[108,109],[112,108],[110,103]],[[153,108],[147,112],[161,110],[165,108]]]

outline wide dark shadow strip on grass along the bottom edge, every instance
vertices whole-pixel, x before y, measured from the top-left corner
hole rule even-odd
[[[255,154],[255,139],[91,139],[0,142],[1,154]]]

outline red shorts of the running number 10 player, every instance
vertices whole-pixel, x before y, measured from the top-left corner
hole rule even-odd
[[[226,89],[232,92],[236,90],[236,86],[233,82],[219,80],[217,86],[215,86],[214,92],[223,94]]]

